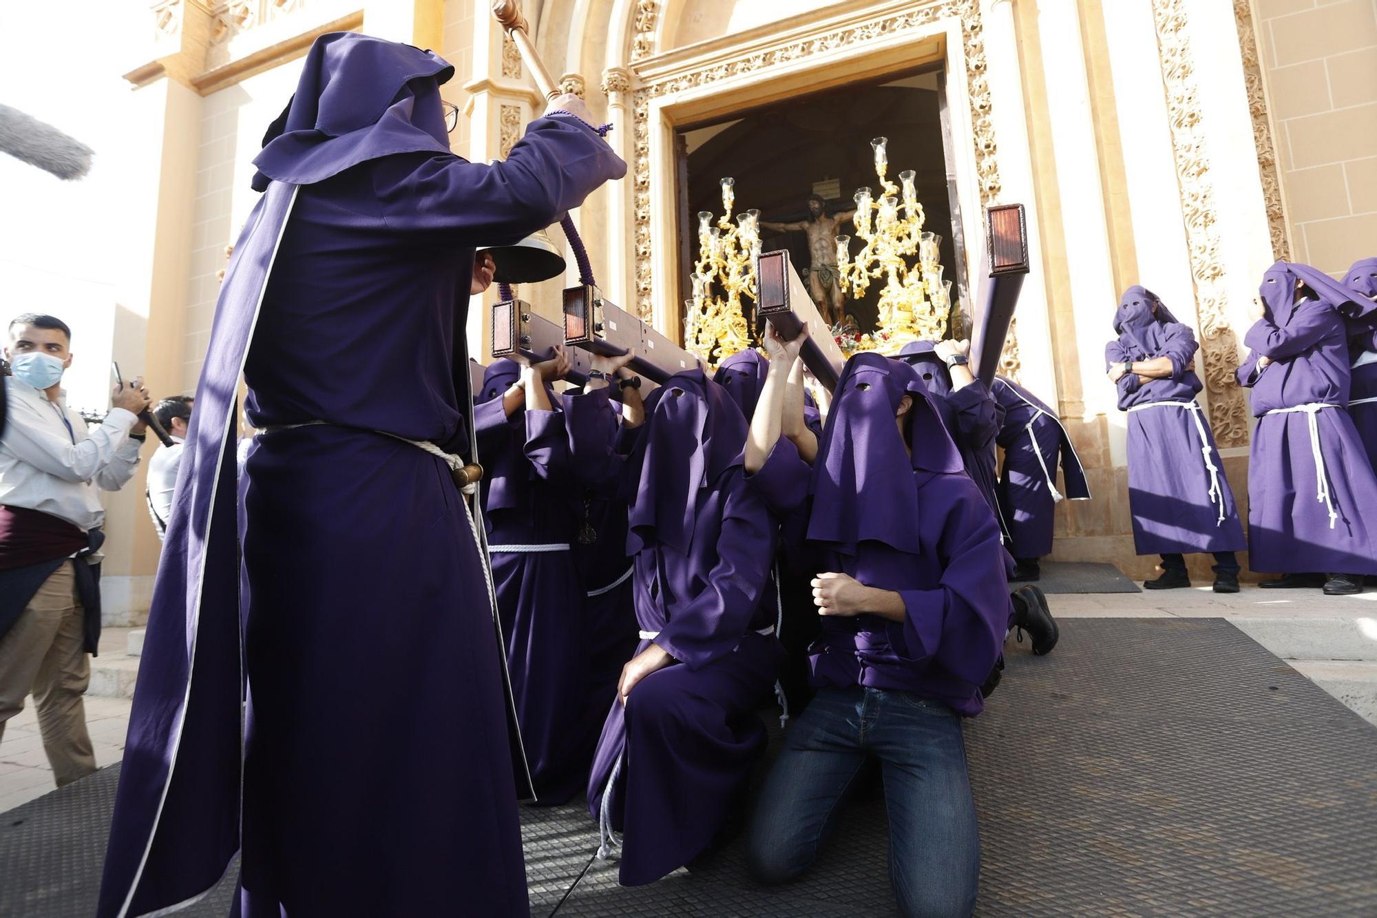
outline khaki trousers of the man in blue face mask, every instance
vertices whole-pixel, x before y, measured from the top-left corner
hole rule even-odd
[[[0,637],[0,740],[4,725],[33,692],[39,731],[58,787],[95,771],[81,696],[91,681],[85,655],[85,609],[77,598],[73,564],[52,572],[10,631]],[[3,755],[3,753],[0,753]]]

